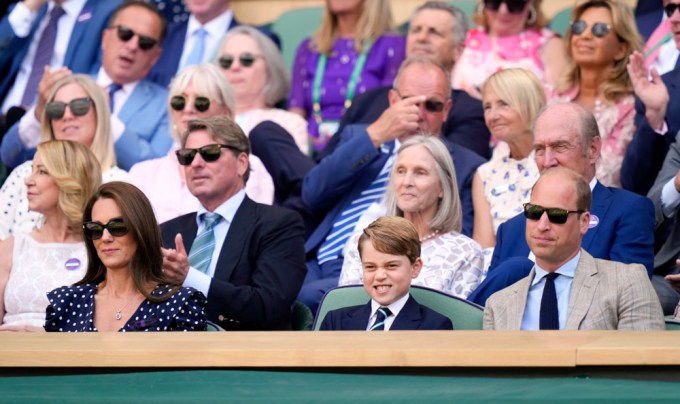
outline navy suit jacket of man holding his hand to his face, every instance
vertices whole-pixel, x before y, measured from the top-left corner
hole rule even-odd
[[[350,125],[340,135],[340,145],[305,176],[302,200],[315,212],[328,212],[309,236],[305,251],[312,252],[324,241],[336,218],[375,180],[394,149],[383,145],[381,153],[366,132],[367,125]],[[464,147],[445,142],[456,167],[456,182],[463,210],[463,234],[472,234],[472,177],[484,159]]]

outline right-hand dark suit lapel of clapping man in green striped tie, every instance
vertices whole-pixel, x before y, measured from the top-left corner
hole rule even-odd
[[[258,219],[255,207],[255,202],[246,196],[236,211],[234,220],[229,225],[227,237],[224,239],[220,257],[217,260],[214,275],[216,279],[229,280],[241,256],[248,254],[248,251],[246,251],[249,247],[246,245],[247,236]]]

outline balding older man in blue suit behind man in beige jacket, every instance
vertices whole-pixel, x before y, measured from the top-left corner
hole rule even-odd
[[[595,258],[642,264],[651,277],[654,205],[647,197],[597,181],[595,164],[601,142],[595,117],[578,104],[548,107],[534,125],[538,169],[567,167],[590,183],[593,199],[588,231],[581,242],[583,249]],[[498,228],[489,273],[468,300],[484,305],[493,293],[529,274],[533,265],[527,261],[533,260],[533,254],[523,237],[525,227],[526,218],[521,213]]]

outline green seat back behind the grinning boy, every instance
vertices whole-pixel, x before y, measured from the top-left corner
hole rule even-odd
[[[418,303],[451,319],[455,330],[482,329],[484,309],[481,306],[422,286],[411,286],[411,295]],[[330,290],[319,304],[314,330],[321,327],[329,311],[366,304],[369,300],[370,297],[361,285],[341,286]]]

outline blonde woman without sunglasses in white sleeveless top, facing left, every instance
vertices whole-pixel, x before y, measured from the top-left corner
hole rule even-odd
[[[38,145],[25,183],[28,207],[42,220],[0,242],[0,331],[41,331],[45,294],[85,274],[82,212],[101,168],[84,145],[52,140]]]

